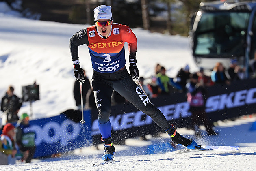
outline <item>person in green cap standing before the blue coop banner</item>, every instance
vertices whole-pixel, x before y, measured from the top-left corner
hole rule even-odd
[[[20,151],[24,156],[27,155],[25,161],[30,163],[35,153],[35,132],[29,131],[29,117],[27,113],[20,116],[20,120],[16,125],[16,141]]]

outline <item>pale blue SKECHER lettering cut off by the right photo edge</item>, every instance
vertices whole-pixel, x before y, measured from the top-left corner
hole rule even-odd
[[[256,103],[256,88],[211,96],[206,102],[206,112],[240,107]]]

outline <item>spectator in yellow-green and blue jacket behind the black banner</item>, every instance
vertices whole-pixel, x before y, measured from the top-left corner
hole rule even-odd
[[[157,84],[161,88],[161,94],[169,94],[170,78],[165,75],[165,67],[161,67],[160,72],[156,75]]]

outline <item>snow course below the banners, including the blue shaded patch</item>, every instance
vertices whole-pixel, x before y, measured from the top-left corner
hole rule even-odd
[[[163,154],[133,155],[134,146],[141,148],[149,142],[133,139],[126,146],[116,146],[116,163],[93,166],[100,163],[102,149],[95,150],[86,147],[75,150],[74,153],[59,158],[33,160],[29,164],[2,165],[3,171],[255,171],[256,170],[256,130],[249,131],[255,115],[251,118],[242,117],[235,121],[218,122],[215,130],[219,135],[195,139],[198,143],[207,145],[239,145],[236,151],[204,151],[176,154],[166,152]],[[184,128],[178,132],[191,137],[193,131]],[[193,137],[193,136],[192,136]],[[143,152],[142,152],[143,153]]]

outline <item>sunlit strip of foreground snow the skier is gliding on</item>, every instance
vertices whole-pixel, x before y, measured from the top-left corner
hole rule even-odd
[[[256,147],[241,147],[236,151],[204,151],[186,154],[152,154],[141,156],[122,156],[120,162],[99,164],[101,159],[75,159],[60,161],[33,162],[30,164],[2,165],[1,170],[22,171],[253,171],[256,169]]]

